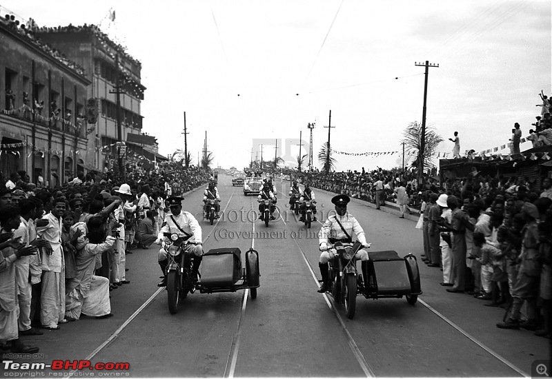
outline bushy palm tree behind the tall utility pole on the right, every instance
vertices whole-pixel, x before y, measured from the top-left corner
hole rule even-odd
[[[443,138],[437,132],[435,132],[435,127],[433,125],[426,126],[425,133],[425,147],[424,147],[424,156],[421,157],[423,167],[434,167],[433,163],[433,154],[437,150],[437,146],[442,143]],[[405,152],[417,156],[417,164],[420,167],[420,150],[422,150],[422,125],[414,121],[410,123],[406,130],[404,130],[404,139],[401,143],[404,143]],[[417,181],[422,183],[423,170],[418,170]]]

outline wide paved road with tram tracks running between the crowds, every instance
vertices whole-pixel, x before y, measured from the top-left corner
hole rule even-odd
[[[295,220],[286,205],[285,182],[276,183],[282,216],[268,228],[251,222],[256,196],[244,196],[230,180],[219,176],[224,216],[217,224],[201,221],[202,191],[188,194],[184,209],[200,221],[204,249],[239,247],[242,256],[250,247],[257,249],[257,299],[248,291],[195,293],[170,315],[166,291],[155,286],[161,271],[153,245],[127,256],[131,283],[111,292],[115,317],[83,317],[59,331],[26,337],[44,356],[17,362],[129,362],[130,370],[118,372],[132,377],[516,377],[530,376],[532,362],[548,358],[549,340],[497,329],[502,309],[447,293],[439,285],[442,272],[423,264],[424,294],[416,305],[404,298],[359,297],[355,318],[348,320],[331,296],[316,292],[321,224],[306,230]],[[331,195],[316,196],[323,221],[333,209]],[[422,235],[412,221],[361,203],[350,203],[349,212],[364,227],[372,251],[420,256]]]

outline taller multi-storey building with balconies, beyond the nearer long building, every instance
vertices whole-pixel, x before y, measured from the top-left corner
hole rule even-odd
[[[39,37],[61,50],[81,65],[88,87],[88,115],[95,124],[87,125],[88,150],[95,152],[93,165],[103,169],[110,158],[117,156],[117,141],[127,141],[128,134],[140,134],[140,103],[146,88],[140,83],[141,63],[125,52],[125,48],[108,38],[95,25],[41,28]],[[117,127],[117,92],[119,92],[121,130]],[[119,133],[121,134],[119,136]],[[140,154],[141,147],[126,148],[127,155]]]

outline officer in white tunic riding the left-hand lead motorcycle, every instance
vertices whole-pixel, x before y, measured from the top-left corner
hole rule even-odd
[[[164,233],[176,233],[178,236],[184,238],[184,240],[190,240],[196,245],[186,245],[184,253],[187,255],[194,254],[194,265],[192,269],[192,278],[196,278],[199,272],[199,265],[201,264],[201,256],[203,255],[203,249],[201,247],[201,227],[190,212],[182,212],[182,201],[184,198],[178,196],[172,196],[167,198],[166,204],[170,209],[170,212],[166,214],[161,230],[157,235],[156,243],[160,244],[163,240],[168,240],[168,237],[164,236]],[[161,247],[159,249],[159,266],[163,271],[164,278],[157,287],[165,287],[167,285],[167,265],[168,258],[167,252]]]

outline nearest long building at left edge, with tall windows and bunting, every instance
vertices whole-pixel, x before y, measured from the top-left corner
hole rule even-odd
[[[0,170],[61,184],[84,170],[90,79],[9,15],[0,20]]]

